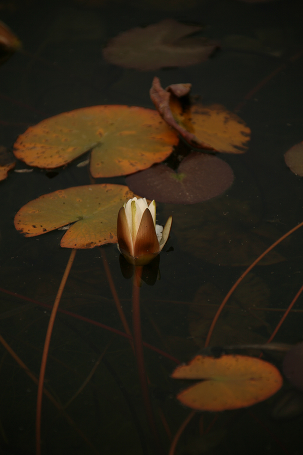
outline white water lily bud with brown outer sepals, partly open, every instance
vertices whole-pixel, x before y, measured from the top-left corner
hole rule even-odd
[[[164,226],[156,224],[156,202],[132,198],[118,213],[118,248],[128,262],[145,265],[164,247],[172,225],[170,216]]]

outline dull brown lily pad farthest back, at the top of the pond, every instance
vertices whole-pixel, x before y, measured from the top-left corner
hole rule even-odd
[[[143,71],[204,62],[218,44],[192,37],[203,28],[165,19],[148,27],[135,27],[112,38],[103,50],[106,60]]]

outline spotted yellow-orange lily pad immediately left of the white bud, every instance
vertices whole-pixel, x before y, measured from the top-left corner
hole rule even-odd
[[[117,243],[117,216],[135,195],[124,185],[72,187],[44,194],[25,204],[15,216],[15,228],[34,237],[74,223],[64,234],[64,248],[93,248]]]

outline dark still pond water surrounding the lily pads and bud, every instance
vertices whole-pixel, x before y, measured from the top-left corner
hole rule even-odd
[[[132,280],[122,275],[116,245],[77,251],[59,307],[66,312],[56,317],[45,373],[53,401],[43,396],[41,453],[169,453],[191,411],[176,398],[187,384],[170,377],[173,358],[186,362],[204,346],[218,305],[242,272],[303,221],[303,183],[283,157],[303,139],[301,2],[1,0],[0,12],[22,41],[0,68],[2,146],[12,148],[29,126],[76,108],[154,108],[148,93],[154,76],[164,87],[191,83],[203,103],[236,110],[251,129],[246,153],[220,154],[235,175],[228,191],[198,204],[157,205],[159,222],[172,214],[173,228],[160,257],[161,279],[143,283],[140,302],[143,341],[164,351],[144,348],[161,448],[146,419],[132,346],[109,329],[124,332],[105,264],[132,328]],[[206,62],[156,71],[103,58],[110,38],[166,18],[204,25],[203,35],[220,41],[221,49]],[[24,238],[14,216],[40,195],[92,184],[88,167],[76,166],[85,157],[52,172],[11,171],[0,183],[0,334],[35,377],[50,315],[45,304],[54,303],[70,250],[60,247],[64,231]],[[15,169],[31,168],[18,161]],[[125,185],[125,178],[94,180],[104,182]],[[266,343],[302,285],[302,247],[299,229],[249,272],[222,311],[210,345]],[[302,312],[299,298],[274,341],[302,341]],[[8,349],[0,347],[0,452],[35,453],[37,386]],[[283,355],[263,358],[281,371]],[[277,415],[289,392],[298,411]],[[197,412],[175,453],[299,454],[300,403],[285,379],[277,394],[254,406]]]

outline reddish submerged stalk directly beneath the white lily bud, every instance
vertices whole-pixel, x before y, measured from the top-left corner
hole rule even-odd
[[[140,319],[140,280],[142,275],[142,266],[135,267],[135,274],[133,280],[133,291],[132,291],[132,320],[133,320],[133,334],[134,334],[134,346],[135,355],[138,367],[139,382],[141,386],[142,398],[144,409],[146,413],[147,422],[149,424],[151,433],[154,436],[155,444],[158,451],[162,452],[161,442],[156,427],[153,408],[151,407],[149,390],[147,385],[147,376],[144,365],[144,353],[141,333],[141,319]]]

